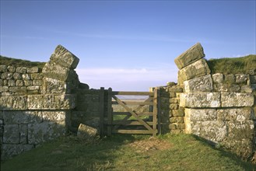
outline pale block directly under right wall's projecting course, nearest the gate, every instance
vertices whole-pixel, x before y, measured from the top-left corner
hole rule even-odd
[[[217,120],[216,109],[185,109],[186,120],[191,121],[206,121]]]

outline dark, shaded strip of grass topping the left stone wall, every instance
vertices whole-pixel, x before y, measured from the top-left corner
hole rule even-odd
[[[0,55],[0,65],[26,67],[26,68],[31,68],[31,67],[43,68],[45,65],[45,62],[26,61],[23,59],[8,58]]]

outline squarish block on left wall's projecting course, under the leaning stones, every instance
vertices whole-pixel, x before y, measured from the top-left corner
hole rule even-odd
[[[58,79],[44,78],[42,92],[44,94],[64,93],[65,82]]]

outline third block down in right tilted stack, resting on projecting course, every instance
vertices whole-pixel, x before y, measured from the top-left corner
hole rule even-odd
[[[212,77],[205,75],[196,79],[184,81],[185,92],[211,92],[212,91]]]

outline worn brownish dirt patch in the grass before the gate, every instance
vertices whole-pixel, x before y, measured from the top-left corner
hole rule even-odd
[[[147,140],[134,141],[128,145],[135,148],[135,152],[154,152],[157,150],[162,151],[173,146],[169,141],[164,141],[153,137]]]

